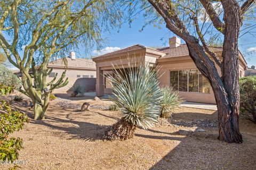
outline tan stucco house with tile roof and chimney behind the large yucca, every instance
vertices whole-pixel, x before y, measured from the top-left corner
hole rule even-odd
[[[222,48],[212,48],[215,53],[221,54]],[[215,104],[215,98],[210,83],[198,71],[189,56],[186,44],[181,44],[178,37],[169,39],[169,47],[154,49],[142,45],[133,45],[112,53],[93,58],[97,68],[96,94],[103,96],[111,94],[111,86],[107,75],[111,74],[113,65],[127,67],[127,56],[132,63],[139,61],[149,62],[161,68],[162,76],[159,77],[160,86],[169,86],[180,92],[187,101]],[[217,64],[216,64],[217,65]],[[244,77],[246,62],[239,55],[239,74]],[[220,67],[217,66],[219,74]],[[103,75],[106,75],[105,77]]]

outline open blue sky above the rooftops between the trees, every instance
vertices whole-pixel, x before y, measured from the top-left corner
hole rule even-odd
[[[155,28],[153,25],[147,25],[143,31],[139,31],[144,24],[143,16],[133,21],[131,28],[129,24],[123,24],[119,31],[117,29],[111,30],[110,33],[103,33],[102,37],[107,39],[107,43],[104,45],[105,48],[100,52],[95,50],[90,54],[85,54],[85,50],[81,45],[79,51],[76,51],[78,57],[88,57],[90,55],[103,54],[125,48],[135,44],[141,44],[147,47],[162,47],[168,46],[168,40],[173,37],[174,34],[165,28],[165,25],[161,29]],[[255,34],[256,36],[256,34]],[[184,41],[182,40],[182,43]],[[256,38],[250,34],[242,36],[239,41],[239,50],[244,55],[248,66],[256,65]]]

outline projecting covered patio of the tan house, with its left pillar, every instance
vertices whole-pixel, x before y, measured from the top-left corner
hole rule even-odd
[[[156,49],[151,49],[141,45],[134,45],[117,52],[93,58],[97,68],[96,96],[112,94],[111,86],[107,80],[107,74],[112,74],[113,69],[125,69],[130,64],[139,64],[140,62],[150,63],[153,66],[159,57],[166,55]]]

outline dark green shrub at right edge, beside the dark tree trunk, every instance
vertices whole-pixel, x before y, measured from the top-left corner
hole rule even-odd
[[[239,80],[240,112],[256,123],[256,76],[243,77]]]

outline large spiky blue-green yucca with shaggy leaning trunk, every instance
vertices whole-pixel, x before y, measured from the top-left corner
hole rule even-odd
[[[124,69],[114,69],[110,75],[114,98],[123,117],[105,134],[108,140],[126,140],[134,135],[137,126],[151,128],[160,115],[161,90],[156,79],[157,69],[149,64],[128,64]]]

